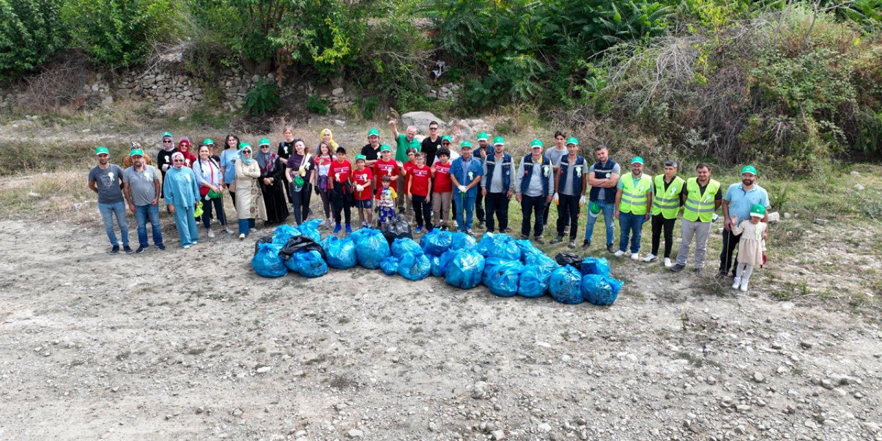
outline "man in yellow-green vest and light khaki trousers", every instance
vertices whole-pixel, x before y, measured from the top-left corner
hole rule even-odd
[[[711,232],[714,212],[722,205],[720,182],[711,179],[711,167],[704,162],[695,168],[696,177],[686,180],[680,193],[684,202],[683,223],[680,225],[680,248],[676,250],[676,265],[670,271],[678,273],[686,267],[689,248],[695,238],[695,273],[701,274],[705,268],[707,236]]]

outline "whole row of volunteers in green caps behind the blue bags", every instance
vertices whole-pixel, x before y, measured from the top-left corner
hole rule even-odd
[[[319,133],[314,153],[294,130],[285,127],[273,152],[268,138],[258,141],[258,153],[250,144],[230,133],[224,148],[217,154],[212,139],[202,141],[197,153],[191,152],[186,137],[175,145],[171,133],[162,134],[162,147],[151,165],[138,143],[131,144],[125,162],[127,168],[110,163],[106,147],[96,149],[98,165],[89,173],[89,187],[98,194],[98,206],[112,245],[111,254],[120,250],[114,231],[114,216],[122,235],[123,251],[143,252],[149,247],[146,223],[153,230],[153,243],[161,250],[159,201],[164,199],[172,213],[183,248],[198,243],[197,222],[202,221],[208,237],[213,238],[212,223],[217,222],[228,235],[223,193],[229,192],[238,218],[238,235],[244,239],[256,231],[255,221],[280,223],[294,214],[295,225],[310,218],[310,194],[322,200],[322,227],[333,233],[352,232],[352,208],[358,213],[361,228],[382,228],[400,217],[415,222],[415,233],[432,228],[454,228],[471,235],[475,212],[478,225],[489,232],[508,229],[510,200],[515,198],[522,212],[521,239],[533,234],[544,243],[543,232],[551,206],[557,206],[557,235],[551,243],[564,242],[569,235],[570,248],[576,247],[579,216],[587,204],[587,221],[582,249],[591,246],[594,223],[602,215],[606,226],[606,249],[617,257],[629,254],[639,259],[643,224],[651,221],[652,250],[642,260],[660,258],[662,233],[665,244],[661,258],[671,271],[684,269],[692,243],[695,243],[694,268],[705,265],[706,242],[711,223],[722,208],[724,224],[720,274],[732,270],[733,288],[747,290],[756,265],[765,259],[768,195],[757,183],[756,168],[742,169],[741,183],[721,184],[711,179],[711,167],[700,163],[696,176],[677,176],[676,161],[665,161],[664,172],[644,174],[644,161],[632,158],[631,171],[622,174],[621,166],[609,157],[607,146],[594,147],[594,160],[579,154],[579,140],[555,133],[555,145],[547,149],[542,140],[530,143],[530,153],[515,161],[505,151],[505,138],[477,136],[477,146],[465,139],[441,136],[438,123],[430,123],[430,135],[416,138],[415,127],[400,133],[396,121],[390,121],[392,146],[380,142],[380,132],[370,129],[368,143],[348,161],[346,147],[333,140],[333,132]],[[459,152],[453,148],[459,144]],[[543,152],[543,149],[544,152]],[[354,164],[354,165],[353,165]],[[131,250],[125,208],[138,221],[138,249]],[[288,207],[290,206],[290,211]],[[676,263],[671,261],[673,232],[680,211],[682,240]],[[376,211],[376,216],[375,212]],[[376,219],[375,219],[376,217]],[[620,235],[613,243],[615,220]],[[375,223],[376,221],[376,223]],[[629,250],[630,246],[630,250]],[[732,258],[738,248],[737,262]]]

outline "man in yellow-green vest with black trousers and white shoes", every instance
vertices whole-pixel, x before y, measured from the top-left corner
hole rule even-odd
[[[676,161],[664,161],[664,174],[653,178],[653,250],[643,258],[644,262],[658,260],[659,245],[662,242],[662,229],[664,229],[664,265],[671,267],[670,250],[674,248],[674,223],[676,215],[680,213],[683,200],[680,193],[683,192],[686,182],[682,177],[676,176]]]

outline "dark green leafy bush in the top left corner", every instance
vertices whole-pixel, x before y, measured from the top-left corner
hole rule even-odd
[[[0,77],[36,70],[64,48],[58,0],[0,0]]]

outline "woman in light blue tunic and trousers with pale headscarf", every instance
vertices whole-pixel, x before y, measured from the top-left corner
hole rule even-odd
[[[168,213],[175,217],[181,246],[186,249],[199,243],[199,231],[193,216],[199,203],[199,187],[193,170],[183,167],[183,153],[172,154],[172,168],[168,169],[165,179],[162,180],[162,192],[165,194]]]

